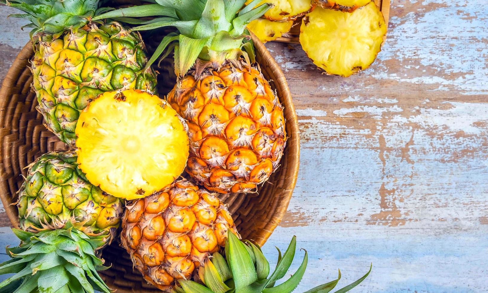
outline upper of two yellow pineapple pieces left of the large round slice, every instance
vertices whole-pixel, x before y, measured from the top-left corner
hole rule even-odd
[[[246,5],[250,2],[251,0],[247,0]],[[313,8],[312,0],[263,0],[255,7],[264,3],[273,4],[273,7],[264,13],[263,16],[270,21],[296,20]]]

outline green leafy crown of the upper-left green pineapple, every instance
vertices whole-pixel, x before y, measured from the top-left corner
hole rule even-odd
[[[99,0],[0,0],[1,3],[17,8],[25,14],[11,14],[10,17],[30,21],[22,26],[32,28],[31,38],[39,33],[59,34],[67,28],[85,25],[89,18],[104,12],[98,10]]]

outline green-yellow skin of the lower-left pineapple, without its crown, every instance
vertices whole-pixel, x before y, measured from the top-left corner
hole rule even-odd
[[[76,159],[72,151],[49,152],[29,166],[17,203],[20,229],[55,230],[70,222],[87,235],[115,233],[123,200],[90,184]]]

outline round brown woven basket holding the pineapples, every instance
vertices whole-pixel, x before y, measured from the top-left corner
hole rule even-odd
[[[299,132],[295,108],[283,72],[264,45],[254,36],[256,61],[264,77],[276,90],[285,106],[286,142],[281,167],[253,194],[231,194],[225,199],[237,229],[244,239],[262,246],[278,226],[288,207],[297,181],[299,167]],[[17,190],[26,176],[24,169],[41,154],[64,150],[66,146],[42,125],[42,116],[36,110],[37,99],[30,84],[32,75],[28,61],[33,56],[27,43],[15,59],[0,89],[0,197],[12,226],[18,228],[15,205]],[[158,292],[139,272],[132,270],[129,255],[114,241],[102,252],[105,264],[112,265],[100,272],[102,278],[118,293]]]

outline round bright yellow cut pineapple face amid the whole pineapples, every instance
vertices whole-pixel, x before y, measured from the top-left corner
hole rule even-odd
[[[186,166],[186,123],[157,96],[133,89],[105,92],[78,122],[78,167],[113,196],[151,195],[168,187]]]

